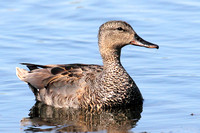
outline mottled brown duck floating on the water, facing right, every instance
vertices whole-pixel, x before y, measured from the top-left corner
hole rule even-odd
[[[98,46],[103,65],[21,63],[17,77],[31,88],[35,99],[56,108],[101,110],[141,105],[143,96],[120,61],[126,45],[156,48],[142,39],[125,21],[108,21],[98,32]]]

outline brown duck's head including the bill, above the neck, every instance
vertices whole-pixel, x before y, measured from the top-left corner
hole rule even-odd
[[[128,44],[146,48],[159,48],[158,45],[139,37],[133,28],[124,21],[108,21],[100,26],[99,48],[101,53],[121,49]]]

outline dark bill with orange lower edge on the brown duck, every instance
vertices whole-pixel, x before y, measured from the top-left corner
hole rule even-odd
[[[157,49],[159,49],[158,45],[143,40],[137,34],[135,34],[135,39],[133,41],[131,41],[130,44],[136,45],[136,46],[140,46],[140,47],[157,48]]]

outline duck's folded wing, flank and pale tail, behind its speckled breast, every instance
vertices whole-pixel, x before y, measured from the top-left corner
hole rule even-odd
[[[30,71],[17,68],[17,75],[29,84],[36,100],[54,107],[78,108],[86,90],[92,90],[94,80],[102,72],[99,65],[35,65],[22,63]]]

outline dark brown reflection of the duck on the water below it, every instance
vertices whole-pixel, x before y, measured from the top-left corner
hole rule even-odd
[[[25,132],[95,132],[126,133],[136,126],[142,105],[137,108],[90,112],[87,110],[54,108],[40,102],[21,120]]]

